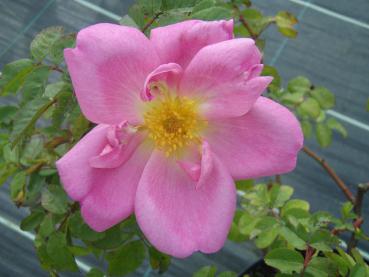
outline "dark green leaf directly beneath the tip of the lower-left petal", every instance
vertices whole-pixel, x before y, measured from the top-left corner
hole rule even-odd
[[[74,213],[68,224],[73,236],[85,241],[96,241],[105,237],[104,233],[92,230],[82,219],[80,212]]]

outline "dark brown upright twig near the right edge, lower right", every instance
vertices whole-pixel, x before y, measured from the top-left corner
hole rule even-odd
[[[362,215],[362,209],[363,209],[363,199],[365,193],[369,190],[369,183],[367,184],[359,184],[357,186],[357,193],[354,203],[354,213],[356,214],[356,219],[353,222],[355,230],[360,228],[360,226],[363,224],[364,219],[361,217]],[[351,250],[356,247],[358,243],[358,240],[356,239],[355,231],[352,232],[348,246],[347,246],[347,252],[351,253]]]

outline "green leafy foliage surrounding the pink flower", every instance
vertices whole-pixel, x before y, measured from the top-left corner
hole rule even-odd
[[[297,19],[292,14],[280,11],[264,16],[249,0],[137,0],[120,23],[148,34],[157,26],[186,19],[230,18],[236,36],[255,39],[261,50],[265,45],[262,33],[272,25],[288,38],[297,35]],[[75,34],[50,27],[31,43],[30,58],[3,67],[0,96],[9,98],[11,104],[0,106],[0,186],[8,184],[14,203],[29,209],[20,227],[34,232],[40,264],[51,276],[78,271],[77,258],[86,255],[105,259],[112,276],[135,271],[145,259],[153,270],[163,273],[171,258],[146,241],[134,217],[97,233],[83,222],[78,203],[68,199],[61,187],[55,161],[92,128],[77,105],[63,61],[63,49],[74,44]],[[268,97],[298,116],[306,138],[315,136],[320,146],[327,147],[332,131],[347,136],[342,124],[327,116],[335,105],[328,89],[315,87],[302,76],[283,88],[277,69],[268,65],[263,74],[274,76]],[[237,188],[242,192],[242,209],[236,213],[229,238],[253,241],[263,250],[265,262],[283,276],[296,272],[361,276],[369,272],[355,248],[347,254],[340,246],[338,235],[344,232],[368,239],[357,224],[360,215],[353,212],[351,203],[345,203],[341,218],[335,218],[326,212],[312,213],[309,203],[291,199],[293,188],[286,185],[254,185],[248,180],[238,182]],[[98,268],[87,274],[103,275]],[[214,266],[206,266],[194,276],[236,275],[217,273]]]

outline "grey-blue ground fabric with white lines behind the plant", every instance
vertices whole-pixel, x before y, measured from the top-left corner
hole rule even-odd
[[[263,34],[267,38],[266,64],[277,67],[283,80],[305,75],[314,84],[336,95],[335,110],[329,115],[339,119],[348,137],[334,134],[333,145],[322,149],[311,140],[311,149],[324,157],[353,190],[356,184],[369,181],[369,1],[368,0],[255,0],[264,14],[287,10],[299,19],[298,37],[285,39],[275,27]],[[42,29],[64,26],[67,32],[97,22],[117,22],[127,13],[132,0],[0,0],[0,70],[19,58],[29,56],[29,44]],[[326,172],[303,153],[296,170],[282,177],[295,188],[295,197],[306,199],[312,210],[338,214],[338,204],[345,201]],[[26,210],[10,201],[7,187],[0,190],[0,276],[47,276],[33,248],[32,234],[18,225]],[[369,230],[369,196],[364,205],[364,228]],[[360,245],[369,252],[369,245]],[[242,272],[259,258],[250,244],[227,243],[217,254],[195,254],[175,260],[166,276],[188,276],[201,266],[216,264],[220,271]],[[80,264],[84,275],[89,267],[101,266],[86,259]],[[143,265],[133,275],[153,276]],[[151,274],[151,275],[150,275]]]

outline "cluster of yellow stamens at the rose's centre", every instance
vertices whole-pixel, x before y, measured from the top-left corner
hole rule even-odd
[[[169,94],[158,95],[147,103],[144,113],[144,127],[156,147],[167,156],[200,142],[200,131],[206,121],[198,114],[198,103],[186,97]]]

